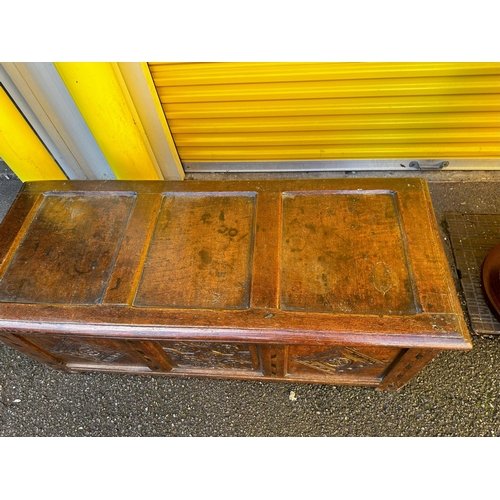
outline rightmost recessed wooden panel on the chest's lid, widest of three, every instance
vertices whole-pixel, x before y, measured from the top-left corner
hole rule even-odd
[[[417,312],[392,191],[283,194],[281,307]]]

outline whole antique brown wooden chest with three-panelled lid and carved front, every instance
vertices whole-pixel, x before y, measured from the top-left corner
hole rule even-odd
[[[70,372],[385,390],[471,347],[422,179],[26,183],[0,339]]]

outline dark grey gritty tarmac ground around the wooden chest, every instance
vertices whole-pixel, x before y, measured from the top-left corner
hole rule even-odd
[[[186,182],[304,176],[423,176],[438,222],[445,211],[500,213],[500,172],[495,171],[192,174]],[[20,186],[0,163],[0,221]],[[441,225],[440,231],[454,272],[449,238]],[[459,287],[457,282],[461,296]],[[64,374],[0,344],[0,436],[499,436],[499,367],[500,338],[473,335],[471,351],[442,352],[399,392],[388,393],[349,386]]]

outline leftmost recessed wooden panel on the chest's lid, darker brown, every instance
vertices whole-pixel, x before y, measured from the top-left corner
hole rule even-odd
[[[0,280],[0,302],[97,304],[135,195],[47,194]]]

